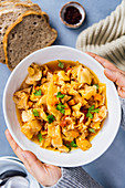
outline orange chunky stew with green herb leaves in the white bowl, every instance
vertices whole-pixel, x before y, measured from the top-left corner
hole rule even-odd
[[[32,63],[13,94],[21,132],[42,148],[92,147],[107,115],[106,85],[80,62]]]

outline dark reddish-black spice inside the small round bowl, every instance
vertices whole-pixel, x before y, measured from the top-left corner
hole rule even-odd
[[[69,24],[76,24],[80,22],[81,19],[82,14],[80,13],[80,10],[77,8],[70,6],[65,9],[64,20]]]

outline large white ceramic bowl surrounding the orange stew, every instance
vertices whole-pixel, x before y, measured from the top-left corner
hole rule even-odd
[[[108,116],[104,126],[96,137],[92,140],[92,148],[86,152],[81,149],[71,153],[59,153],[40,148],[37,144],[29,140],[20,130],[17,118],[13,93],[20,88],[21,83],[28,74],[28,67],[32,62],[43,64],[52,60],[80,61],[90,67],[98,76],[100,81],[106,83],[106,96]],[[19,146],[23,149],[33,152],[38,158],[44,163],[62,167],[75,167],[86,165],[100,157],[113,143],[121,122],[121,105],[115,85],[104,75],[103,66],[90,55],[67,46],[54,45],[35,51],[20,62],[11,73],[3,93],[3,114],[7,126]]]

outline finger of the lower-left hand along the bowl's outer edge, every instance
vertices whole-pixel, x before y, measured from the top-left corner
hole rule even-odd
[[[29,165],[28,165],[25,158],[23,157],[23,149],[21,149],[21,147],[14,142],[14,139],[12,138],[9,129],[6,129],[6,137],[7,137],[8,142],[9,142],[12,150],[14,152],[14,154],[24,164],[24,166],[27,167],[29,173],[31,173],[31,169],[29,168]]]

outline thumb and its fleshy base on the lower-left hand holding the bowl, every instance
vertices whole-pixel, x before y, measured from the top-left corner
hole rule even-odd
[[[23,152],[25,167],[32,176],[43,186],[53,186],[61,178],[61,168],[41,163],[37,156],[29,152]]]

